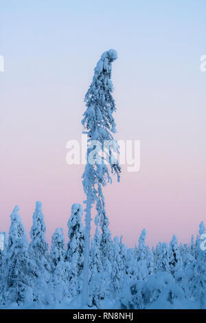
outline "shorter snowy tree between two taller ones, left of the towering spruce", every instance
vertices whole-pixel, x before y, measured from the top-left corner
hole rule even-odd
[[[69,296],[66,284],[67,265],[65,263],[65,237],[61,227],[58,227],[52,235],[51,269],[54,285],[54,300],[61,302]]]

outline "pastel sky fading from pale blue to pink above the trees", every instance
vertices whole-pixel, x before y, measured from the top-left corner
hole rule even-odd
[[[115,138],[141,140],[141,168],[104,190],[112,235],[189,242],[206,222],[205,0],[0,2],[0,231],[17,204],[29,235],[42,201],[47,241],[56,227],[67,236],[85,196],[66,143],[81,138],[84,94],[113,48]]]

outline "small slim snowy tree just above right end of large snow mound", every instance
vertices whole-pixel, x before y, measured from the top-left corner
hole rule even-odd
[[[177,271],[182,269],[183,265],[179,245],[175,235],[172,236],[172,241],[170,241],[169,261],[170,272],[175,276]]]

